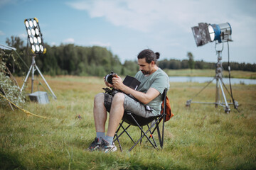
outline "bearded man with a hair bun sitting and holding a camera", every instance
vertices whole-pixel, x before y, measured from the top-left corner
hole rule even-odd
[[[112,84],[105,81],[106,86],[123,91],[114,94],[100,93],[94,100],[94,120],[96,128],[95,141],[92,142],[90,151],[102,150],[102,152],[114,152],[117,150],[113,143],[114,133],[122,120],[125,111],[132,112],[144,118],[159,115],[161,111],[161,95],[164,89],[169,89],[169,77],[157,67],[159,52],[146,49],[138,55],[139,71],[135,78],[141,82],[137,90],[124,85],[121,77],[113,77]],[[132,95],[133,98],[127,96]],[[145,107],[149,106],[149,107]],[[105,123],[107,111],[110,113],[107,134],[105,135]]]

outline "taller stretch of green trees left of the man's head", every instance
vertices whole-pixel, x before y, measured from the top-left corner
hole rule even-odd
[[[27,72],[33,56],[30,47],[24,46],[20,38],[13,36],[11,39],[6,38],[6,44],[15,47],[19,54],[17,57],[14,51],[6,51],[7,67],[14,74],[24,74],[24,70]],[[122,64],[119,57],[113,55],[106,47],[82,47],[74,44],[53,47],[44,45],[47,49],[46,54],[36,55],[36,65],[43,74],[102,77],[110,74],[111,71],[120,75],[134,75],[139,69],[136,59]],[[23,62],[14,64],[14,60]]]

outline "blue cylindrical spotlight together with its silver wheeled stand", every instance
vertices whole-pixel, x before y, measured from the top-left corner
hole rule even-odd
[[[220,24],[208,24],[208,23],[198,23],[198,26],[195,26],[192,28],[193,31],[193,36],[196,40],[196,46],[202,46],[205,45],[208,42],[213,42],[215,41],[215,50],[216,50],[216,45],[217,43],[223,43],[232,41],[231,40],[231,33],[232,29],[229,23],[220,23]],[[225,108],[225,113],[230,113],[230,107],[229,104],[233,104],[235,108],[238,108],[238,102],[234,100],[232,91],[231,91],[231,85],[230,85],[230,92],[226,88],[224,82],[223,82],[223,67],[222,67],[222,56],[221,53],[223,51],[223,46],[221,50],[216,50],[218,53],[218,62],[216,64],[216,69],[215,69],[215,77],[213,80],[216,80],[216,89],[215,89],[215,102],[210,103],[210,102],[192,102],[192,99],[198,96],[206,87],[213,82],[210,81],[206,86],[201,89],[201,91],[198,92],[193,98],[189,99],[186,101],[186,106],[190,107],[191,103],[206,103],[206,104],[215,104],[215,108],[218,106],[223,106]],[[228,49],[228,54],[229,54],[229,49]],[[229,58],[229,55],[228,55]],[[229,66],[228,66],[229,67]],[[229,67],[230,71],[230,67]],[[233,103],[228,103],[227,98],[225,97],[224,89],[225,87],[226,91],[228,91],[228,94],[230,94],[231,98],[233,99]],[[222,94],[222,98],[220,97],[220,92]],[[221,100],[220,100],[221,99]]]

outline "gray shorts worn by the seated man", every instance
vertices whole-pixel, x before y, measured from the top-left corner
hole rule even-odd
[[[104,106],[110,112],[113,96],[110,94],[104,94],[104,96]],[[151,111],[146,111],[144,104],[135,101],[132,97],[127,96],[127,94],[124,94],[124,111],[140,115],[144,118],[155,116]]]

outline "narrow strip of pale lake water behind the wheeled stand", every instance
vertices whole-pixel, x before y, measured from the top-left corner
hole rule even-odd
[[[198,82],[212,81],[213,77],[169,77],[170,82]],[[224,84],[229,84],[228,78],[223,78]],[[216,83],[216,80],[213,81]],[[231,78],[231,84],[256,84],[256,79],[235,79]]]

